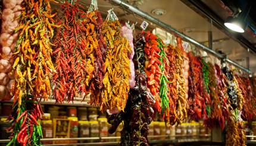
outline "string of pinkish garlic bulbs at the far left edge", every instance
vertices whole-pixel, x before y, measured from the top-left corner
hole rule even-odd
[[[14,62],[12,56],[18,39],[18,33],[14,30],[18,26],[22,1],[2,2],[4,9],[1,11],[0,99],[8,100],[11,99],[11,88],[14,85],[14,72],[11,71],[11,65]]]

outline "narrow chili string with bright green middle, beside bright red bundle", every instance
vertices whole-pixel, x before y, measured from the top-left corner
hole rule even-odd
[[[157,38],[157,42],[158,42],[158,47],[160,48],[160,53],[158,55],[160,55],[160,62],[161,64],[158,65],[160,68],[160,71],[163,72],[163,74],[160,77],[160,98],[161,98],[161,109],[162,109],[162,115],[164,116],[164,118],[166,118],[167,120],[169,120],[169,97],[168,97],[168,85],[167,82],[168,79],[166,77],[167,72],[166,72],[166,66],[169,65],[168,60],[167,60],[167,56],[166,56],[166,52],[167,52],[167,48],[166,45],[163,43],[163,41],[158,37]]]

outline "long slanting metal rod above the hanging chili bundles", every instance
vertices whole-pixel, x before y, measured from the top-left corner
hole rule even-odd
[[[164,28],[168,31],[171,31],[173,33],[176,33],[178,36],[182,37],[182,39],[185,39],[193,44],[195,44],[196,46],[201,47],[202,50],[211,53],[212,55],[216,56],[217,58],[220,59],[224,59],[224,56],[221,55],[220,53],[215,52],[214,50],[202,45],[201,43],[197,42],[196,40],[191,39],[191,37],[186,36],[185,34],[181,33],[180,31],[174,29],[173,27],[171,27],[169,24],[163,23],[162,21],[158,20],[157,18],[152,17],[151,15],[149,15],[146,12],[141,11],[138,8],[133,7],[130,4],[127,4],[127,2],[124,2],[122,0],[110,0],[111,2],[114,2],[117,5],[120,5],[122,8],[126,8],[127,11],[131,11],[134,12],[135,14],[139,15],[142,18],[145,18],[145,20],[150,21],[151,23],[156,24],[157,26],[160,26],[161,28]],[[251,71],[239,64],[237,64],[236,62],[230,60],[230,59],[226,59],[226,62],[228,62],[229,64],[232,64],[234,66],[236,66],[237,68],[242,69],[245,72],[248,72],[249,74],[251,74]]]

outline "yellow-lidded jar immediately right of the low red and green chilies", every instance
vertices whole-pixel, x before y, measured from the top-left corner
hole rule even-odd
[[[42,120],[43,138],[52,138],[52,120]],[[43,141],[42,144],[52,144],[52,141]]]

